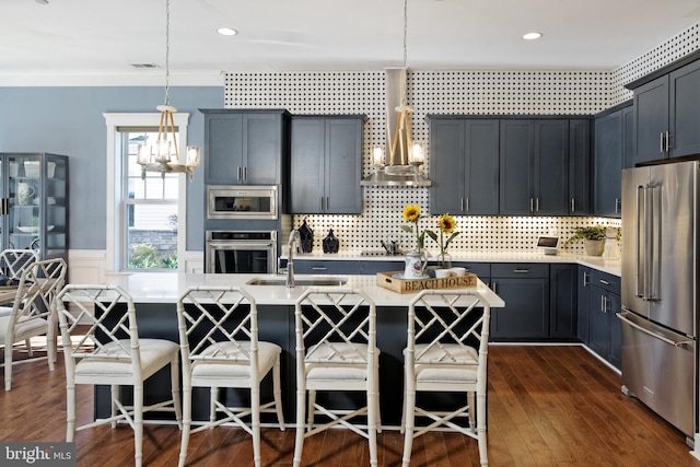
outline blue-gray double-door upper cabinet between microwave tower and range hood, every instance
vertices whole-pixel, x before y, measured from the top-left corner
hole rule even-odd
[[[362,115],[292,117],[290,213],[362,212],[364,119]]]

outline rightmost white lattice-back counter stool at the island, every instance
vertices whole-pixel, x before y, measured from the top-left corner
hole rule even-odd
[[[411,300],[404,351],[404,467],[410,463],[413,439],[435,429],[476,439],[480,463],[488,465],[486,394],[490,314],[488,302],[475,290],[423,290]],[[416,402],[417,393],[421,392],[462,393],[467,404],[447,411],[421,408]],[[416,427],[417,417],[427,424]],[[463,418],[468,419],[468,424],[457,423]]]

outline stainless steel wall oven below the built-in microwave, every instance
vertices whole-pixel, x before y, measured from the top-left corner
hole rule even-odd
[[[276,231],[207,231],[205,272],[273,273]]]

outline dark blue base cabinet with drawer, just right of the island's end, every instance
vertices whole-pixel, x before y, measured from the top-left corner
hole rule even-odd
[[[491,289],[505,302],[491,311],[491,340],[549,338],[548,264],[493,262]]]

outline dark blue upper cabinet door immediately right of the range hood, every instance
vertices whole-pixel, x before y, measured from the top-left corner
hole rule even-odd
[[[498,120],[495,120],[498,125]],[[465,197],[466,125],[462,119],[430,120],[430,212],[460,214]],[[497,157],[498,159],[498,157]],[[498,184],[495,184],[498,186]],[[498,208],[497,208],[498,212]]]

